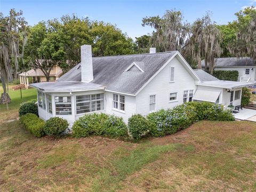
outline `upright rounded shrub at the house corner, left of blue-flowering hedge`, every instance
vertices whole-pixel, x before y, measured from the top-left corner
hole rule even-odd
[[[132,115],[128,119],[128,129],[133,139],[140,139],[149,131],[149,127],[147,119],[140,114]]]

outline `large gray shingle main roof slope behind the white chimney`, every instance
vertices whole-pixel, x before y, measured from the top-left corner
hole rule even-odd
[[[93,57],[93,81],[107,86],[107,90],[135,94],[177,51]],[[143,62],[145,73],[125,71],[133,62]],[[141,63],[139,63],[141,64]],[[58,81],[81,81],[80,63],[62,75]]]

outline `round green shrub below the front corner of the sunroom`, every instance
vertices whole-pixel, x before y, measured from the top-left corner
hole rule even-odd
[[[68,121],[60,117],[51,117],[45,122],[43,130],[46,135],[58,137],[61,132],[68,129]]]

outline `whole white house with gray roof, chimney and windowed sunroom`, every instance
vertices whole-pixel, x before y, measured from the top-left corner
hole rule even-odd
[[[39,117],[62,117],[71,127],[85,114],[102,112],[127,123],[133,114],[193,100],[240,105],[242,87],[250,85],[193,70],[178,51],[92,57],[91,46],[83,45],[81,55],[81,63],[58,81],[30,84],[38,92]]]

